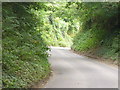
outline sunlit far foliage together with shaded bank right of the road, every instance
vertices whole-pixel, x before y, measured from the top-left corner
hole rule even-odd
[[[117,60],[119,3],[51,2],[46,5],[49,8],[44,14],[42,37],[48,45],[73,44],[75,51]]]

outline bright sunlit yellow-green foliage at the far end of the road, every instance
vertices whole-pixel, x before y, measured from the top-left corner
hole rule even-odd
[[[79,30],[79,23],[76,19],[70,19],[67,3],[46,3],[47,11],[43,11],[44,26],[40,27],[43,31],[42,37],[48,45],[52,46],[71,46],[72,37]],[[70,12],[74,11],[71,9]],[[39,12],[41,13],[41,12]],[[38,14],[39,14],[38,13]]]

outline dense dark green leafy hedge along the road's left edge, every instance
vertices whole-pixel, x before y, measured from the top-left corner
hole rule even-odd
[[[50,72],[47,46],[36,30],[40,3],[3,3],[3,87],[27,87]]]

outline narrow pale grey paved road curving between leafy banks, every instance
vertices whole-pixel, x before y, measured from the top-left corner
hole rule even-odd
[[[51,47],[53,76],[45,88],[118,88],[118,69],[69,48]]]

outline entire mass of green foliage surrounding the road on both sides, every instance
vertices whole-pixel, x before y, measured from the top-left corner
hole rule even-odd
[[[3,3],[3,87],[27,87],[50,72],[47,46],[117,60],[118,3]]]

